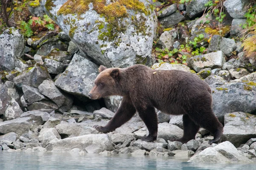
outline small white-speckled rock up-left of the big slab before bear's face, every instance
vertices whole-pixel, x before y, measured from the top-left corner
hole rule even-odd
[[[62,72],[64,65],[54,59],[45,59],[44,65],[46,66],[49,73],[59,74]]]

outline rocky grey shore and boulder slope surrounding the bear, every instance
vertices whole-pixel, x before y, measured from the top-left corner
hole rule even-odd
[[[249,2],[224,2],[227,18],[221,31],[216,31],[213,14],[203,15],[206,7],[201,5],[208,0],[164,8],[154,2],[153,7],[160,8],[157,12],[147,0],[133,8],[120,1],[126,13],[114,21],[94,1],[86,11],[74,9],[74,14],[65,2],[41,0],[30,9],[40,16],[36,11],[43,8],[61,32],[28,38],[11,27],[0,35],[0,150],[175,156],[189,162],[256,161],[256,58],[247,57],[242,42],[235,38],[241,36]],[[110,4],[116,8],[116,3]],[[201,25],[202,21],[209,23]],[[161,34],[157,23],[164,28]],[[187,46],[195,38],[200,39],[196,48],[204,49],[200,54],[189,52]],[[177,54],[183,64],[177,58],[164,60],[159,53]],[[107,124],[122,100],[120,96],[88,98],[99,65],[125,68],[134,64],[188,71],[204,79],[212,88],[213,111],[224,125],[222,142],[209,145],[213,136],[202,128],[186,144],[170,142],[183,135],[182,116],[160,111],[154,142],[141,140],[148,131],[137,114],[111,133],[94,129],[94,125]]]

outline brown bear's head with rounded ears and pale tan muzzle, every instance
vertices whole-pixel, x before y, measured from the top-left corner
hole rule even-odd
[[[89,92],[90,99],[100,99],[102,97],[119,95],[117,81],[119,79],[120,68],[99,67],[99,75],[94,81],[93,89]]]

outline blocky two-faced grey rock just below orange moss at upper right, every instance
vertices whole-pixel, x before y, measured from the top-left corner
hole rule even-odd
[[[212,36],[208,47],[209,52],[222,51],[227,57],[232,56],[232,52],[236,50],[236,42],[230,38],[224,38],[220,35]]]

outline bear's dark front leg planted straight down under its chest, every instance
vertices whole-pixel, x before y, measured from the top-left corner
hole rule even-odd
[[[148,128],[148,136],[142,138],[143,141],[152,142],[157,139],[157,114],[154,107],[147,107],[146,109],[137,109],[140,118]]]

